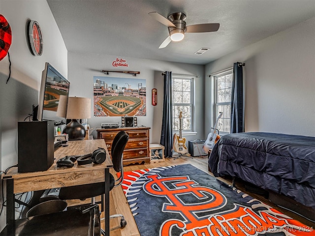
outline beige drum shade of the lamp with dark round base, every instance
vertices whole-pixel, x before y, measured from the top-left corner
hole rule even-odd
[[[69,97],[66,118],[67,119],[91,118],[91,98]]]

